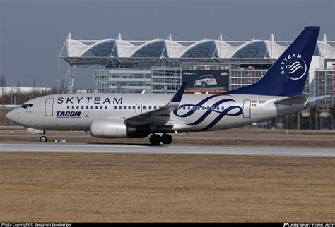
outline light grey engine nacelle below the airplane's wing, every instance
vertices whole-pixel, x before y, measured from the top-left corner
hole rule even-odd
[[[127,137],[127,127],[120,120],[94,120],[90,123],[90,135],[102,138]]]

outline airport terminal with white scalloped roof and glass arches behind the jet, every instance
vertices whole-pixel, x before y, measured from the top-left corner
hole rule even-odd
[[[69,63],[67,78],[74,67],[93,68],[97,92],[172,93],[182,82],[185,92],[220,93],[259,80],[290,44],[270,40],[146,41],[117,39],[78,40],[71,34],[59,55]],[[73,83],[73,81],[72,81]],[[319,106],[335,103],[335,41],[324,35],[317,42],[305,85],[305,92],[329,95]]]

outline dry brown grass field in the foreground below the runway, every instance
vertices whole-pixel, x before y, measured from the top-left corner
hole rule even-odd
[[[334,158],[0,154],[0,221],[335,221]]]

